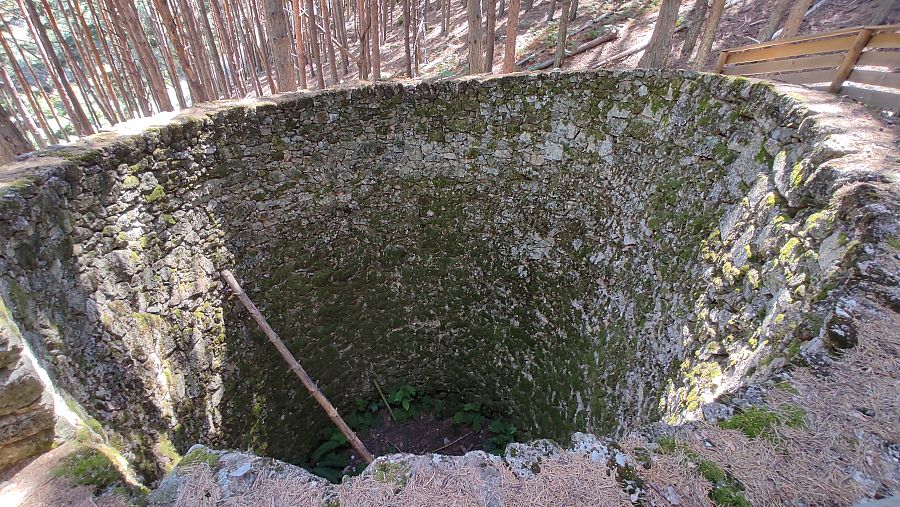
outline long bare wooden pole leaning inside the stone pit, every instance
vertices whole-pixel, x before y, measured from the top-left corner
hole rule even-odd
[[[359,437],[356,436],[356,433],[347,426],[347,423],[341,418],[341,415],[338,414],[337,410],[334,408],[334,405],[328,401],[328,398],[322,394],[322,391],[316,387],[315,382],[309,377],[306,373],[306,370],[300,366],[300,363],[297,362],[297,359],[294,358],[294,355],[291,354],[291,351],[284,346],[284,342],[281,341],[281,338],[278,337],[278,334],[275,333],[275,330],[269,326],[269,323],[266,322],[265,317],[262,316],[262,313],[259,312],[259,309],[256,308],[256,305],[253,304],[253,301],[247,296],[247,293],[244,292],[244,289],[241,288],[240,284],[234,278],[234,274],[229,270],[222,271],[222,277],[225,278],[225,281],[228,282],[229,287],[231,287],[232,292],[238,297],[244,307],[250,312],[250,315],[253,317],[253,320],[259,325],[259,328],[263,333],[269,338],[269,341],[272,342],[272,345],[275,345],[275,348],[278,349],[278,352],[281,353],[281,357],[288,363],[291,371],[293,371],[298,377],[300,377],[300,381],[303,382],[303,385],[306,386],[306,389],[309,390],[309,394],[319,402],[322,409],[325,410],[325,413],[328,414],[328,417],[331,418],[331,421],[341,430],[341,433],[347,437],[347,440],[350,442],[350,445],[353,449],[360,455],[362,459],[366,461],[366,463],[371,463],[375,460],[372,457],[372,454],[366,449],[366,446],[362,443]]]

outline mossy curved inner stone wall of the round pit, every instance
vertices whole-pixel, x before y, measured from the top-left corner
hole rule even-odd
[[[0,187],[11,320],[149,476],[172,442],[298,461],[324,427],[221,269],[339,409],[408,382],[531,437],[616,433],[696,417],[827,334],[858,244],[836,189],[870,177],[801,102],[721,76],[204,107]]]

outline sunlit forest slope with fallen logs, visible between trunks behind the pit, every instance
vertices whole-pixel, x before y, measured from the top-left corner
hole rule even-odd
[[[722,18],[721,26],[713,42],[709,61],[704,70],[709,70],[715,63],[718,52],[722,49],[754,44],[759,42],[755,37],[774,5],[775,0],[737,0],[728,2]],[[817,2],[818,4],[820,2]],[[816,5],[814,4],[814,5]],[[871,18],[878,0],[824,0],[824,3],[812,12],[800,28],[800,34],[836,30],[851,26],[864,25]],[[517,62],[527,58],[524,65],[517,70],[527,70],[529,66],[552,58],[557,40],[558,21],[560,16],[559,2],[554,12],[553,21],[547,21],[551,3],[536,2],[528,12],[523,12],[519,20],[519,36],[517,41]],[[618,36],[612,41],[567,58],[565,69],[597,68],[602,60],[616,55],[636,45],[647,42],[656,22],[657,0],[581,0],[578,16],[569,22],[567,48],[569,50],[588,42],[612,27],[617,29]],[[686,18],[693,2],[684,0],[680,18]],[[604,14],[614,16],[604,16]],[[466,49],[466,13],[457,0],[451,4],[451,21],[449,33],[441,34],[441,12],[431,9],[427,16],[426,36],[423,63],[420,65],[418,77],[444,78],[463,75],[467,67]],[[497,40],[494,50],[494,71],[502,65],[503,48],[506,41],[506,13],[497,19]],[[892,12],[886,23],[900,23],[900,8]],[[612,26],[610,26],[612,25]],[[352,30],[352,27],[350,28]],[[672,45],[670,66],[689,68],[690,62],[681,58],[681,47],[684,44],[687,30],[675,34]],[[402,26],[394,24],[388,31],[387,40],[382,46],[382,78],[403,78],[404,45]],[[615,62],[615,68],[634,68],[637,66],[642,52]],[[342,82],[357,81],[356,69],[351,62],[349,74]]]

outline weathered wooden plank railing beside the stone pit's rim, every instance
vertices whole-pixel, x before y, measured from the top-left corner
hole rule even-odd
[[[900,111],[900,25],[846,28],[726,49],[715,71],[840,92]]]

